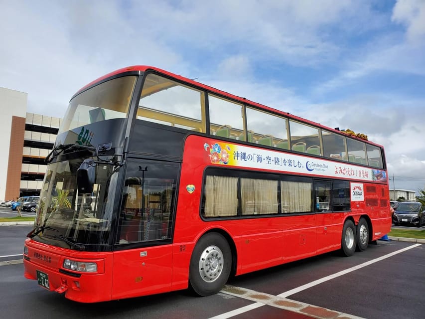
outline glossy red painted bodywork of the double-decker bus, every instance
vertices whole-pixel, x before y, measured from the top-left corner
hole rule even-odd
[[[126,68],[114,74],[128,70]],[[351,202],[350,212],[203,220],[200,216],[203,173],[207,166],[214,166],[202,152],[204,143],[212,144],[215,140],[199,135],[186,138],[172,244],[95,253],[58,248],[26,239],[28,255],[24,256],[25,277],[36,279],[36,270],[39,270],[48,274],[51,291],[64,292],[66,298],[78,302],[101,302],[187,288],[193,248],[199,238],[211,230],[226,236],[236,256],[236,275],[241,275],[341,248],[342,228],[348,218],[357,224],[364,216],[370,222],[372,240],[381,238],[391,229],[387,181],[363,182],[365,189],[371,186],[376,191],[365,191],[364,201]],[[186,185],[194,185],[194,191],[188,192]],[[370,206],[369,199],[386,200],[388,204],[383,207]],[[65,258],[97,261],[102,266],[96,273],[82,274],[76,278],[59,272]]]

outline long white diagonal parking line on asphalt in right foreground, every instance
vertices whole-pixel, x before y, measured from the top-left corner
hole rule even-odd
[[[357,266],[354,266],[354,267],[351,267],[351,268],[348,268],[348,269],[342,270],[342,271],[340,271],[340,272],[337,272],[337,273],[335,273],[335,274],[332,274],[332,275],[329,275],[329,276],[326,276],[326,277],[320,278],[320,279],[318,279],[318,280],[312,281],[311,283],[308,283],[308,284],[305,284],[305,285],[299,286],[299,287],[297,287],[297,288],[294,288],[294,289],[288,290],[288,291],[286,291],[286,292],[283,292],[282,294],[279,294],[277,297],[280,297],[280,298],[286,298],[287,296],[290,296],[290,295],[293,295],[293,294],[299,293],[299,292],[301,292],[301,291],[303,291],[303,290],[306,290],[306,289],[309,289],[309,288],[311,288],[311,287],[314,287],[314,286],[316,286],[316,285],[318,285],[318,284],[324,283],[324,282],[326,282],[326,281],[328,281],[328,280],[331,280],[331,279],[334,279],[334,278],[340,277],[340,276],[342,276],[342,275],[348,274],[348,273],[353,272],[353,271],[355,271],[355,270],[358,270],[358,269],[361,269],[361,268],[363,268],[363,267],[366,267],[366,266],[372,265],[372,264],[377,263],[377,262],[379,262],[379,261],[381,261],[381,260],[387,259],[387,258],[389,258],[389,257],[392,257],[392,256],[397,255],[397,254],[400,254],[400,253],[403,253],[403,252],[405,252],[405,251],[407,251],[407,250],[410,250],[410,249],[415,248],[415,247],[418,247],[418,246],[421,246],[421,244],[415,244],[415,245],[412,245],[412,246],[405,247],[405,248],[403,248],[403,249],[397,250],[397,251],[395,251],[395,252],[389,253],[389,254],[387,254],[387,255],[384,255],[384,256],[381,256],[381,257],[378,257],[378,258],[375,258],[375,259],[372,259],[372,260],[367,261],[367,262],[365,262],[365,263],[362,263],[362,264],[360,264],[360,265],[357,265]],[[238,287],[234,287],[234,288],[236,288],[236,290],[238,289]],[[246,293],[247,293],[247,294],[251,294],[251,295],[252,295],[252,291],[245,290],[244,288],[240,288],[240,290],[241,290],[242,292],[243,292],[243,291],[246,291]],[[223,289],[223,290],[221,291],[221,293],[223,293],[223,294],[229,294],[229,293],[226,291],[226,288],[225,288],[225,289]],[[231,295],[232,295],[232,296],[241,297],[241,298],[245,298],[244,294],[245,294],[245,293],[238,293],[238,294],[233,294],[233,293],[232,293]],[[258,293],[258,294],[262,294],[262,293]],[[246,299],[253,300],[252,298],[246,298]],[[269,301],[270,301],[270,299],[269,299],[269,300],[263,300],[263,302],[261,302],[261,299],[260,299],[260,302],[257,302],[257,303],[254,303],[254,304],[252,304],[252,305],[248,305],[248,306],[245,306],[245,307],[242,307],[242,308],[239,308],[239,309],[235,309],[235,310],[232,310],[232,311],[230,311],[230,312],[227,312],[227,313],[224,313],[224,314],[221,314],[221,315],[215,316],[215,317],[211,317],[211,318],[209,318],[209,319],[227,319],[227,318],[231,318],[231,317],[238,316],[238,315],[240,315],[240,314],[246,313],[246,312],[248,312],[248,311],[250,311],[250,310],[260,308],[260,307],[262,307],[262,306],[266,306],[266,305],[274,306],[274,305],[273,305],[273,303],[271,303],[271,304],[267,303],[267,302],[269,302]],[[312,307],[319,308],[319,307],[316,307],[316,306],[312,306]],[[304,315],[306,315],[306,313],[305,313],[305,312],[304,312],[303,314],[304,314]]]

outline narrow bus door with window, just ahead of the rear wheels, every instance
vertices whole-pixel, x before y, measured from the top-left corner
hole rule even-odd
[[[332,213],[332,182],[314,180],[314,211],[316,212],[317,252],[329,251],[334,246],[336,221]]]

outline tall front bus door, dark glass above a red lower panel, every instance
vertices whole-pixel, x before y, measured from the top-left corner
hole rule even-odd
[[[114,251],[112,298],[171,290],[179,165],[130,160]]]

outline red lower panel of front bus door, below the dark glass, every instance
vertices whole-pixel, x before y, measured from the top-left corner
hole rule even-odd
[[[112,299],[169,292],[172,264],[171,245],[114,252]]]

